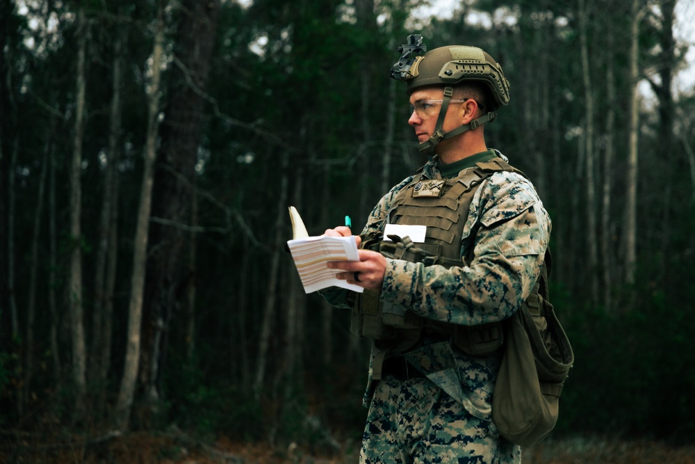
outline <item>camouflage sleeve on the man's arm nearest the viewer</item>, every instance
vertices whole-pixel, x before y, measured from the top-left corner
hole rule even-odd
[[[507,319],[535,285],[549,237],[550,219],[533,186],[496,173],[475,193],[464,226],[461,255],[473,247],[472,261],[445,269],[388,259],[382,298],[464,326]]]

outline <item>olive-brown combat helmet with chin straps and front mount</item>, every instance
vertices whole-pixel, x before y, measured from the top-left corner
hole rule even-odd
[[[406,81],[408,94],[425,86],[444,86],[443,102],[434,134],[429,140],[420,143],[419,147],[421,152],[432,155],[434,147],[440,141],[494,120],[497,117],[498,107],[509,104],[509,81],[505,78],[502,67],[480,48],[448,45],[427,51],[422,40],[422,35],[409,35],[408,43],[398,47],[401,57],[391,68],[391,77],[398,81]],[[453,93],[453,86],[462,81],[483,83],[489,89],[494,104],[480,118],[452,131],[444,132],[442,125]]]

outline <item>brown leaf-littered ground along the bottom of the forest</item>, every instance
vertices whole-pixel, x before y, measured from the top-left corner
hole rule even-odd
[[[5,439],[8,437],[5,436]],[[129,433],[88,441],[41,442],[16,436],[0,443],[0,464],[137,463],[137,464],[353,464],[358,443],[344,443],[332,455],[309,454],[290,445],[223,438],[207,444],[178,431]],[[546,440],[523,451],[524,464],[695,464],[695,445],[669,447],[660,442],[573,438]]]

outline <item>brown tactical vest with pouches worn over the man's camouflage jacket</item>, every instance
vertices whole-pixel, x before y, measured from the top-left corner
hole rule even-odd
[[[461,257],[461,238],[473,195],[484,179],[501,171],[523,175],[501,158],[475,163],[475,168],[465,169],[451,179],[423,179],[422,173],[418,173],[393,198],[387,220],[393,224],[426,225],[425,242],[413,243],[409,237],[398,236],[384,241],[378,235],[365,237],[361,248],[379,251],[392,259],[422,262],[425,266],[465,266],[471,256]],[[500,322],[460,326],[426,319],[380,301],[378,291],[365,290],[357,297],[350,331],[373,339],[379,349],[407,351],[416,346],[423,330],[448,335],[455,346],[471,355],[491,353],[503,341]]]

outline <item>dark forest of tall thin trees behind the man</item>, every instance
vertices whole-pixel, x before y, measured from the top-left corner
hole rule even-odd
[[[0,2],[4,458],[174,424],[359,442],[368,343],[282,245],[288,205],[312,234],[361,227],[426,161],[388,77],[409,33],[511,83],[486,136],[553,218],[576,358],[553,436],[692,442],[692,0],[452,3]]]

